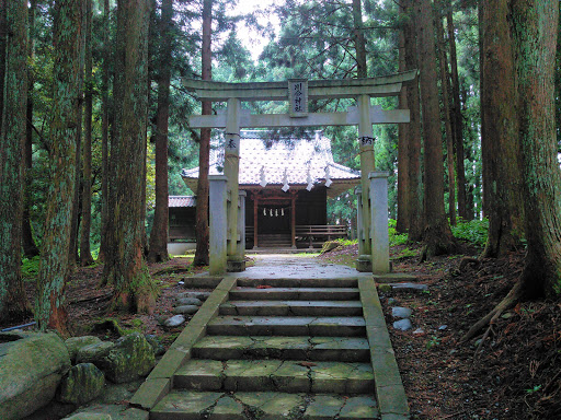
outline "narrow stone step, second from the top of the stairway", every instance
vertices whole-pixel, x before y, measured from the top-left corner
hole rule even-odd
[[[230,290],[230,300],[244,301],[352,301],[359,299],[357,288],[243,288]]]

